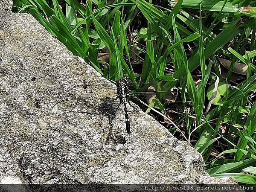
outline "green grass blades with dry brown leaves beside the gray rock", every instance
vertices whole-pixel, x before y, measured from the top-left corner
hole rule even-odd
[[[135,91],[205,170],[256,184],[255,0],[14,0],[102,76]],[[143,86],[142,86],[143,85]],[[150,108],[147,109],[147,112]]]

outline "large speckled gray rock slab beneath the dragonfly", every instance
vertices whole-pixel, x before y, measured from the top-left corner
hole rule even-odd
[[[0,12],[0,177],[22,183],[234,183],[204,172],[195,149],[118,101],[83,102],[81,85],[113,84],[31,15]],[[75,88],[74,88],[75,87]],[[66,101],[64,101],[67,99]],[[112,114],[112,115],[111,115]]]

